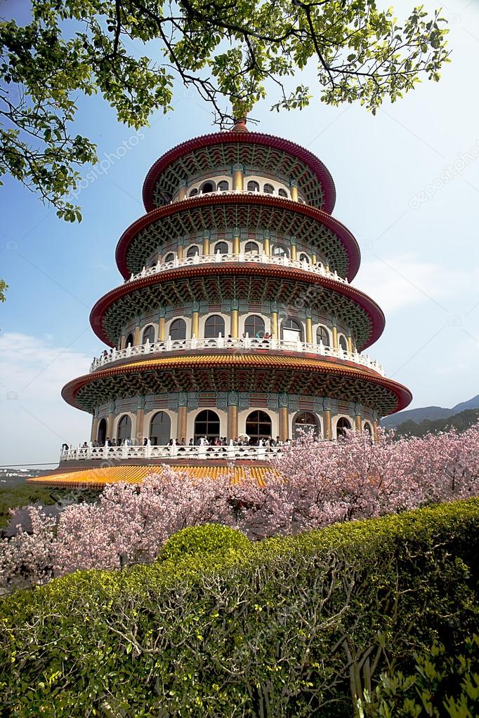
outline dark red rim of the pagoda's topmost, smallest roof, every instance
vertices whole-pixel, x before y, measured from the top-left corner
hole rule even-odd
[[[293,157],[299,159],[300,162],[309,167],[320,180],[322,189],[325,196],[324,211],[331,213],[335,206],[336,201],[336,190],[332,180],[331,174],[327,167],[322,164],[321,160],[312,154],[304,147],[296,144],[295,142],[283,139],[282,137],[276,137],[274,135],[263,134],[261,132],[215,132],[212,134],[202,135],[200,137],[194,137],[176,147],[173,147],[165,154],[162,155],[157,162],[154,163],[153,167],[149,170],[147,177],[145,178],[143,185],[143,203],[147,212],[154,209],[153,204],[153,192],[154,186],[170,164],[175,162],[180,157],[188,154],[195,149],[201,149],[202,147],[212,146],[215,144],[232,144],[234,142],[243,144],[262,144],[266,147],[273,147],[281,151],[291,154]]]

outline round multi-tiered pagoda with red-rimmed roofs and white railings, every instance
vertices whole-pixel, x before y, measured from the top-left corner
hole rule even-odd
[[[62,391],[92,415],[62,471],[254,465],[300,429],[374,437],[409,404],[363,353],[385,320],[351,285],[358,243],[314,154],[239,121],[160,157],[143,201],[116,247],[124,281],[90,314],[108,349]]]

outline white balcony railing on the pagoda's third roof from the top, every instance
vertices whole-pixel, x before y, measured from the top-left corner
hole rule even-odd
[[[185,266],[197,266],[200,264],[222,264],[224,262],[233,262],[235,264],[274,264],[276,266],[294,267],[294,269],[302,269],[310,274],[317,274],[325,276],[328,279],[340,282],[340,284],[349,284],[348,279],[342,277],[337,271],[330,271],[326,269],[324,264],[311,264],[305,260],[299,261],[299,259],[290,259],[287,256],[271,256],[269,254],[253,254],[253,253],[239,253],[239,254],[195,254],[192,257],[182,257],[181,259],[175,256],[169,262],[158,261],[152,267],[143,267],[137,274],[132,274],[127,282],[135,281],[136,279],[143,279],[145,276],[154,276],[155,274],[162,274],[162,272],[169,271],[171,269],[178,269]]]

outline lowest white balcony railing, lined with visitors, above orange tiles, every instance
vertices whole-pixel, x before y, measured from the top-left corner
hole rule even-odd
[[[256,460],[269,461],[276,454],[281,453],[282,447],[235,447],[232,444],[225,447],[182,447],[182,446],[120,446],[120,447],[94,447],[92,444],[78,447],[78,449],[65,449],[60,453],[60,462],[63,461],[125,461],[128,459],[149,459],[162,462],[163,460]]]

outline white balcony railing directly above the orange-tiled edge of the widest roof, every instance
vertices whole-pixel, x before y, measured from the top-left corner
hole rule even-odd
[[[169,352],[200,352],[203,350],[226,349],[234,350],[235,353],[250,353],[251,351],[268,352],[282,351],[292,352],[295,354],[314,354],[318,357],[332,357],[343,361],[350,361],[368,369],[377,371],[378,374],[384,376],[383,367],[375,359],[371,359],[368,354],[360,354],[358,352],[346,352],[341,348],[335,349],[326,347],[324,344],[308,344],[306,342],[294,342],[278,339],[256,339],[255,337],[246,337],[232,339],[228,337],[215,337],[213,339],[175,339],[168,338],[166,341],[154,342],[150,344],[141,344],[137,347],[128,346],[126,349],[112,349],[109,352],[103,352],[99,357],[93,359],[90,366],[90,372],[109,365],[121,359],[129,359],[133,357],[148,357],[152,355],[165,354]]]

